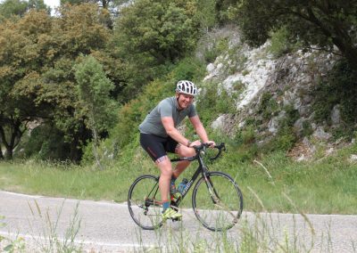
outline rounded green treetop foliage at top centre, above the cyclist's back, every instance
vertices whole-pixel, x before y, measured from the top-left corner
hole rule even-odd
[[[138,0],[120,9],[112,46],[129,73],[128,102],[195,48],[195,1]]]

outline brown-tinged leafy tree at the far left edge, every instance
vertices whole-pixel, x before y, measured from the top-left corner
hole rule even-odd
[[[0,142],[8,159],[12,159],[27,122],[42,112],[26,90],[40,85],[37,70],[45,64],[46,57],[37,37],[48,32],[50,22],[46,12],[29,12],[21,20],[0,23]],[[19,89],[21,86],[25,89]]]

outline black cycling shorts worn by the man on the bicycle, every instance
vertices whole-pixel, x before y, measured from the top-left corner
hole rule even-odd
[[[167,155],[167,152],[174,153],[178,145],[170,136],[161,137],[140,133],[140,144],[149,156],[156,161]]]

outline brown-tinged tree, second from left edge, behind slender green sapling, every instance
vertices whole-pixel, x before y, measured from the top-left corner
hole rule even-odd
[[[105,53],[111,33],[103,24],[102,12],[96,4],[65,5],[59,12],[61,15],[54,19],[50,37],[56,46],[48,52],[53,60],[41,75],[45,83],[37,93],[37,101],[54,106],[51,114],[54,126],[63,133],[65,142],[71,144],[69,159],[77,162],[90,132],[84,118],[76,116],[79,97],[73,67],[80,55],[91,53],[100,54],[101,60],[112,63],[111,57]],[[113,69],[117,67],[112,66]]]

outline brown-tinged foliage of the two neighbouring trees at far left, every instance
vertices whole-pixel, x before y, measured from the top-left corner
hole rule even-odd
[[[108,64],[116,61],[104,51],[110,32],[95,5],[67,6],[61,13],[51,18],[46,12],[31,11],[21,20],[0,24],[0,114],[17,143],[27,121],[49,118],[71,141],[71,159],[76,160],[88,135],[83,119],[75,118],[78,97],[72,67],[80,53],[94,53]],[[99,50],[102,53],[96,53]],[[120,64],[108,71],[118,86],[120,71],[112,72],[119,69]],[[14,146],[9,145],[8,153]]]

